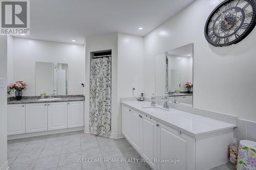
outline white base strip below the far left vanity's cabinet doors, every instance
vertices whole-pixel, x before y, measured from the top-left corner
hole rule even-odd
[[[42,132],[33,132],[33,133],[24,133],[24,134],[17,134],[17,135],[9,135],[7,139],[19,139],[25,137],[34,137],[34,136],[41,136],[41,135],[51,135],[56,133],[65,133],[65,132],[74,132],[74,131],[81,131],[84,130],[84,127],[77,127],[77,128],[68,128],[68,129],[59,129],[59,130],[52,130],[52,131],[42,131]],[[2,169],[0,169],[2,170]]]

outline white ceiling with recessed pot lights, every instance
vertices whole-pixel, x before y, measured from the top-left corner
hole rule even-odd
[[[145,36],[193,1],[31,0],[30,36],[20,37],[84,44],[84,37],[110,32]]]

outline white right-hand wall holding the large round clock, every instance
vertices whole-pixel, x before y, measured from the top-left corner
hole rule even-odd
[[[222,0],[197,0],[144,37],[144,91],[155,90],[155,56],[194,42],[194,107],[256,121],[256,29],[238,44],[214,47],[207,17]]]

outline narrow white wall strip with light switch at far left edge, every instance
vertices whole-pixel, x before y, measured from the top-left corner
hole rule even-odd
[[[5,88],[0,88],[0,169],[7,164],[7,36],[0,36],[0,79],[5,79]]]

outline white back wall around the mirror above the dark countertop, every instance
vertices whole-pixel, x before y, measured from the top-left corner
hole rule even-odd
[[[24,95],[35,95],[35,62],[67,63],[68,94],[83,94],[84,45],[14,37],[13,79],[28,84]]]

